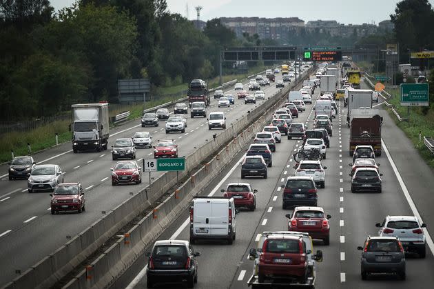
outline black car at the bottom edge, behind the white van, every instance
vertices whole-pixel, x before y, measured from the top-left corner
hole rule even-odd
[[[147,288],[156,283],[185,281],[187,288],[193,288],[198,281],[198,261],[200,252],[194,252],[189,241],[156,241],[152,252],[147,252]]]

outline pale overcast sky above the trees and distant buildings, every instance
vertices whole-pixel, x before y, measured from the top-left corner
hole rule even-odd
[[[51,0],[59,10],[75,0]],[[375,23],[390,19],[400,0],[166,0],[172,13],[196,19],[196,6],[202,6],[200,19],[216,17],[298,17],[310,20],[336,20],[344,24]],[[434,6],[434,0],[429,0]]]

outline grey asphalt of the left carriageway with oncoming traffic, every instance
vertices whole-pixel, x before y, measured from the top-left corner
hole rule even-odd
[[[276,79],[281,79],[277,76]],[[245,89],[248,90],[247,84]],[[267,97],[278,91],[276,85],[263,88]],[[227,89],[236,97],[233,88]],[[211,106],[207,113],[224,111],[227,125],[243,117],[247,110],[260,106],[264,101],[254,104],[244,104],[236,99],[230,108],[218,108],[217,100],[211,95]],[[109,145],[115,139],[132,137],[136,131],[149,131],[154,143],[158,139],[173,138],[178,144],[178,155],[187,156],[194,152],[195,146],[201,146],[212,134],[220,130],[207,128],[207,120],[187,116],[185,133],[165,134],[165,121],[160,121],[158,127],[141,128],[140,120],[125,123],[110,132]],[[27,192],[27,180],[8,181],[7,175],[0,180],[0,286],[17,277],[17,270],[24,272],[40,259],[63,245],[70,237],[82,232],[87,226],[101,217],[103,211],[112,210],[122,201],[130,197],[130,192],[138,192],[148,184],[148,175],[143,174],[141,185],[112,187],[110,168],[116,161],[112,161],[111,150],[103,152],[72,153],[70,142],[56,146],[34,155],[38,163],[59,164],[63,170],[64,180],[80,181],[85,188],[86,210],[81,214],[51,215],[50,196],[48,192]],[[153,159],[153,149],[138,149],[136,160],[141,166],[141,159]],[[1,165],[0,171],[8,172],[7,165]],[[155,172],[152,177],[158,177]]]

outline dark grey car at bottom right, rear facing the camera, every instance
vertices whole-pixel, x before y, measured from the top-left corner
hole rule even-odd
[[[371,273],[396,274],[405,280],[405,253],[397,237],[368,237],[360,259],[360,275],[366,280]]]

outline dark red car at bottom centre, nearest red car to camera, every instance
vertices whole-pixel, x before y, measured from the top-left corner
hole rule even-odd
[[[258,265],[258,281],[297,279],[307,282],[308,257],[302,237],[270,235],[264,241]]]

